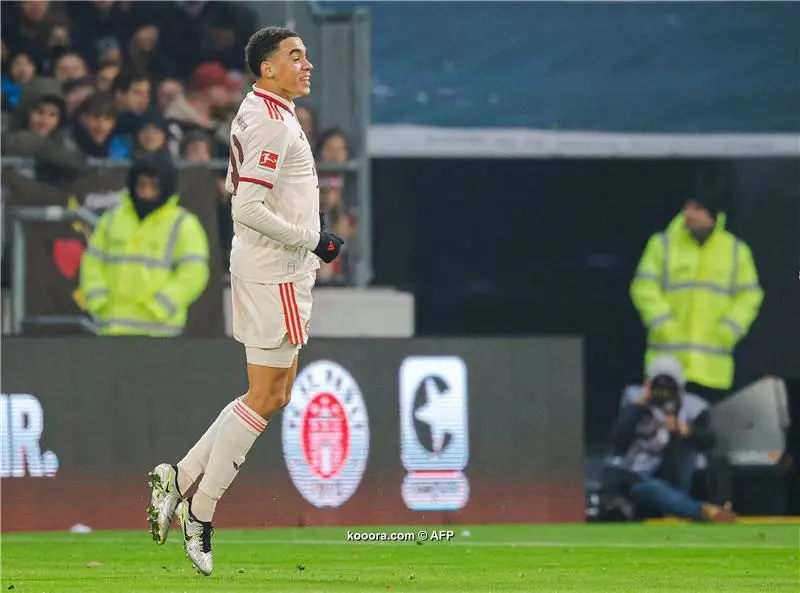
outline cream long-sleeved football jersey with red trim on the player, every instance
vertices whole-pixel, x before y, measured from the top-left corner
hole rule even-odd
[[[273,235],[281,237],[278,241],[235,220],[232,274],[282,283],[319,268],[319,258],[309,251],[319,238],[319,181],[292,102],[253,86],[231,125],[225,187],[233,194],[234,212],[236,200],[263,202],[266,215],[287,223],[282,224],[286,232]]]

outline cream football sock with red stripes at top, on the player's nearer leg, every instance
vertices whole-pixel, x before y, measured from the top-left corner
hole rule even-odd
[[[211,448],[203,479],[192,497],[191,512],[199,521],[211,521],[217,502],[233,482],[247,453],[267,427],[267,421],[244,401],[233,404],[223,418]]]

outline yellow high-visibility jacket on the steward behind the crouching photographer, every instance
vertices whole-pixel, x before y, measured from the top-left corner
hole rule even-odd
[[[717,218],[700,245],[678,215],[653,235],[631,284],[631,299],[648,330],[645,368],[659,354],[675,356],[687,381],[714,389],[733,384],[733,349],[758,316],[764,292],[753,255]]]

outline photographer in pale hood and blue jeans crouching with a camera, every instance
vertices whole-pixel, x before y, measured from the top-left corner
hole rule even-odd
[[[602,498],[606,508],[615,507],[628,520],[653,514],[712,522],[736,519],[727,505],[691,496],[698,455],[710,452],[715,438],[707,405],[684,405],[685,385],[677,359],[655,358],[638,399],[622,409],[614,424]]]

